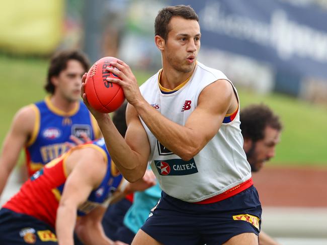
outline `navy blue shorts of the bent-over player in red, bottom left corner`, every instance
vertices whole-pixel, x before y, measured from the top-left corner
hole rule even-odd
[[[26,214],[0,210],[0,243],[2,245],[54,245],[55,230],[47,223]]]

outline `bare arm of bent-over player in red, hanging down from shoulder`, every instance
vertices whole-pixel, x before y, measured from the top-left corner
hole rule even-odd
[[[57,210],[56,234],[59,244],[69,245],[73,244],[77,207],[100,185],[107,166],[101,152],[91,147],[75,150],[68,156],[65,164],[67,174],[69,171],[71,173],[65,183]],[[83,229],[83,232],[88,230]]]

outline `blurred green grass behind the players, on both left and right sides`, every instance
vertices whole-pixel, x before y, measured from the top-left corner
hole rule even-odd
[[[48,60],[17,58],[0,55],[1,117],[0,141],[9,130],[19,108],[45,96]],[[152,73],[134,71],[139,84]],[[264,103],[270,106],[284,125],[281,143],[271,165],[324,165],[327,166],[327,108],[284,95],[257,95],[239,90],[241,108],[249,104]]]

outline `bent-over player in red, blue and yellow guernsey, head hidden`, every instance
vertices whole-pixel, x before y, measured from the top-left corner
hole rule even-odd
[[[73,147],[36,172],[3,206],[0,240],[4,245],[70,245],[76,225],[84,244],[123,244],[104,235],[101,220],[109,198],[116,190],[127,194],[154,184],[150,171],[136,183],[123,180],[104,139]]]

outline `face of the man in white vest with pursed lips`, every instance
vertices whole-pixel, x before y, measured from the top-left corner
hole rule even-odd
[[[165,43],[163,58],[177,71],[190,72],[200,49],[200,26],[195,20],[173,17]]]

